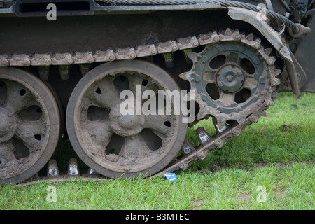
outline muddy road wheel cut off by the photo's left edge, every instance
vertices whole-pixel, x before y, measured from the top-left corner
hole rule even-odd
[[[0,68],[0,182],[20,183],[50,159],[60,116],[49,88],[31,73]]]

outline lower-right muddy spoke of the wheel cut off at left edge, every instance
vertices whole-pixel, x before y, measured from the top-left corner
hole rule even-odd
[[[41,148],[45,134],[46,126],[43,118],[19,123],[15,131],[15,136],[23,141],[29,151],[37,151]]]

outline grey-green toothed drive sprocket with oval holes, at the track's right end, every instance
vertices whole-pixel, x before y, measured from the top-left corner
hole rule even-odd
[[[275,58],[271,48],[264,48],[259,38],[227,29],[211,34],[212,43],[199,53],[190,52],[190,71],[181,78],[190,82],[200,106],[197,120],[214,117],[219,132],[225,124],[242,123],[265,102],[270,85],[279,85],[271,78]],[[281,71],[275,69],[279,74]],[[275,76],[276,76],[275,75]]]

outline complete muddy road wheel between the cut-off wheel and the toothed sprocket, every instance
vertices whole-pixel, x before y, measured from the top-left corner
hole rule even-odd
[[[151,90],[151,97],[139,100],[137,94],[146,90]],[[168,73],[148,62],[110,62],[87,73],[73,90],[66,111],[69,139],[83,162],[111,178],[149,176],[167,166],[186,137],[183,116],[136,111],[165,112],[163,97],[155,109],[148,106],[149,99],[158,100],[159,90],[180,91]]]

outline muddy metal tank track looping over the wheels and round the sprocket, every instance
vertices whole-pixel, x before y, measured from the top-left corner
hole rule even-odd
[[[66,52],[66,53],[56,53],[56,54],[34,54],[34,55],[0,55],[0,66],[50,66],[50,65],[71,65],[71,64],[91,64],[93,62],[111,62],[115,60],[124,59],[135,59],[139,57],[148,57],[157,54],[167,54],[170,52],[176,52],[178,50],[197,48],[198,46],[206,46],[212,43],[226,41],[239,41],[252,48],[255,48],[259,52],[260,56],[267,62],[269,71],[269,87],[265,91],[264,102],[255,111],[252,111],[251,115],[248,116],[241,123],[234,125],[232,127],[226,127],[225,130],[221,132],[217,130],[217,134],[211,137],[203,128],[197,130],[197,136],[200,139],[200,146],[194,148],[186,139],[183,144],[182,150],[186,155],[181,158],[175,158],[174,161],[163,169],[158,174],[153,176],[164,176],[166,172],[175,172],[179,170],[186,170],[193,161],[203,160],[204,158],[214,151],[216,148],[221,148],[223,145],[232,137],[238,136],[242,131],[245,130],[247,125],[251,123],[257,123],[261,116],[265,116],[265,111],[269,106],[273,106],[274,98],[277,97],[276,92],[277,86],[280,84],[279,78],[276,78],[281,71],[276,69],[274,62],[275,57],[270,57],[270,48],[264,48],[261,45],[259,38],[253,38],[253,34],[244,35],[240,34],[239,31],[232,31],[226,29],[225,31],[209,32],[208,34],[203,34],[198,37],[188,37],[179,38],[178,41],[167,41],[165,43],[159,43],[158,45],[145,45],[138,46],[137,48],[127,48],[118,49],[117,51],[107,50],[107,51],[96,51],[96,52]],[[186,55],[187,57],[187,55]],[[41,69],[38,69],[39,71]],[[81,70],[82,71],[82,70]],[[84,73],[83,73],[84,75]],[[47,80],[48,75],[45,73],[40,73],[40,78],[42,80]],[[207,118],[207,116],[206,116]],[[200,120],[200,119],[198,119]],[[48,162],[48,172],[47,176],[38,176],[36,174],[31,179],[20,183],[20,185],[30,185],[32,183],[38,183],[42,181],[53,181],[53,182],[63,182],[70,181],[71,179],[79,177],[84,180],[94,180],[94,181],[104,181],[107,178],[101,175],[97,175],[92,169],[89,169],[87,174],[80,175],[78,170],[78,164],[76,160],[71,159],[69,162],[69,172],[66,175],[60,176],[57,162],[55,160],[50,160]]]

